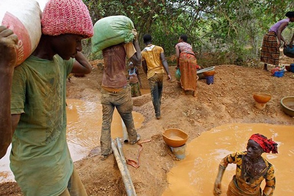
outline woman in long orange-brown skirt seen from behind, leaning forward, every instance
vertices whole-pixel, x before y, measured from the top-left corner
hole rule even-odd
[[[196,97],[197,86],[197,60],[192,46],[187,43],[188,37],[182,34],[179,37],[178,43],[175,45],[175,54],[177,57],[177,68],[180,68],[181,72],[181,87],[182,94],[185,95],[185,91],[193,91],[193,96]]]

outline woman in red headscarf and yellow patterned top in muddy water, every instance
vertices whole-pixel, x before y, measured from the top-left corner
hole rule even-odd
[[[278,153],[277,144],[264,135],[253,134],[248,140],[247,151],[235,152],[221,160],[214,185],[214,195],[221,195],[221,178],[229,163],[237,164],[236,174],[231,180],[227,196],[272,196],[275,188],[274,168],[263,152]],[[261,190],[261,182],[266,179],[266,186]]]

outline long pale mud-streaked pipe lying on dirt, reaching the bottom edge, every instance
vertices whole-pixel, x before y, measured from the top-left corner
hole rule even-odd
[[[132,190],[131,183],[130,183],[128,176],[126,174],[126,171],[125,171],[125,167],[123,166],[123,161],[120,156],[120,153],[113,142],[111,142],[111,148],[112,148],[114,157],[116,159],[116,162],[118,164],[119,170],[120,170],[122,178],[123,178],[123,184],[124,184],[124,188],[126,191],[126,195],[127,196],[136,196],[136,193],[134,193]]]

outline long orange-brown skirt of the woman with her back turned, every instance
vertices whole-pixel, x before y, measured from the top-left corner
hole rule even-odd
[[[180,59],[181,85],[186,90],[196,91],[197,86],[197,60],[193,54],[181,53]]]

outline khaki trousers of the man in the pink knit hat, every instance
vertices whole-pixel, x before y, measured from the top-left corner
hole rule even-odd
[[[60,196],[87,196],[84,185],[74,167],[68,186]]]

